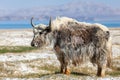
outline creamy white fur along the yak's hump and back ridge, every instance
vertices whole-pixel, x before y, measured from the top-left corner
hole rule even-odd
[[[59,30],[61,28],[61,25],[64,26],[64,27],[67,27],[66,25],[68,24],[68,22],[75,22],[75,23],[78,23],[80,24],[81,26],[98,26],[99,28],[101,28],[103,31],[109,31],[109,29],[102,25],[102,24],[99,24],[99,23],[95,23],[95,24],[91,24],[91,23],[86,23],[86,22],[79,22],[75,19],[72,19],[72,18],[68,18],[68,17],[57,17],[55,20],[52,21],[52,31],[54,30]]]

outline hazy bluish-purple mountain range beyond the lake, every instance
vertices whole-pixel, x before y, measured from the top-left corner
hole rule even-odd
[[[15,11],[0,10],[0,20],[25,20],[32,16],[41,20],[48,19],[50,16],[68,16],[78,20],[119,20],[120,9],[114,9],[99,3],[75,2]]]

